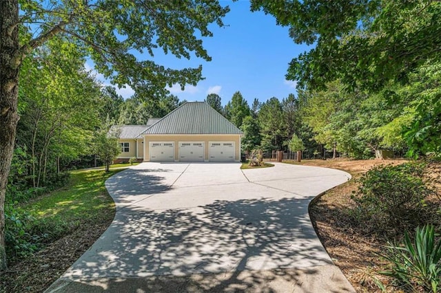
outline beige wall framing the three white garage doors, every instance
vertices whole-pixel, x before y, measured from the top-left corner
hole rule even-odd
[[[149,142],[174,142],[174,158],[179,158],[178,142],[205,142],[204,160],[209,160],[209,142],[234,142],[234,160],[240,161],[240,135],[235,134],[173,134],[173,135],[145,135],[144,160],[149,161]]]

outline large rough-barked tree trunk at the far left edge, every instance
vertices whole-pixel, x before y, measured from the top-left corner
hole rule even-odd
[[[0,1],[0,270],[6,269],[5,195],[14,152],[19,66],[19,4]]]

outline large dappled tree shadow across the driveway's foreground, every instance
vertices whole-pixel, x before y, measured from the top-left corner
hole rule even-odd
[[[88,292],[116,292],[123,285],[132,292],[280,292],[280,284],[291,291],[302,285],[302,274],[318,276],[332,264],[299,199],[216,201],[173,210],[127,206],[119,213],[65,273]]]

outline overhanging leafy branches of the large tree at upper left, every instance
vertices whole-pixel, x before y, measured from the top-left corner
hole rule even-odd
[[[170,69],[154,63],[152,58],[138,60],[135,52],[153,57],[160,47],[165,54],[178,58],[190,58],[193,53],[209,61],[201,39],[196,36],[212,36],[208,25],[223,26],[222,17],[228,11],[217,1],[191,0],[99,0],[81,5],[71,1],[21,1],[20,5],[23,27],[41,32],[43,39],[39,41],[53,34],[68,36],[90,54],[96,69],[106,78],[121,86],[143,88],[150,94],[166,93],[166,85],[175,83],[182,87],[188,83],[195,85],[201,79],[201,67]],[[29,44],[23,45],[27,48]]]

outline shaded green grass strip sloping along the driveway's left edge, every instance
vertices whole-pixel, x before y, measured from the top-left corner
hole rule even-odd
[[[39,252],[9,263],[0,274],[0,292],[43,292],[90,248],[114,218],[104,182],[120,171],[72,171],[66,186],[21,206],[37,218],[32,230],[49,237]]]

